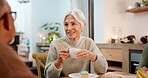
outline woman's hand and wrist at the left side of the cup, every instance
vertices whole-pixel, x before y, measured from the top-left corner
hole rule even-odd
[[[69,57],[70,57],[70,55],[69,55],[68,48],[60,50],[60,52],[58,54],[58,58],[55,61],[55,66],[57,67],[57,69],[61,68],[61,64]]]

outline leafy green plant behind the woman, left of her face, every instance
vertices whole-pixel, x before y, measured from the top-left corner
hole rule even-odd
[[[61,25],[62,24],[59,23],[59,22],[52,22],[52,23],[46,23],[46,24],[44,24],[43,26],[40,27],[40,28],[43,28],[46,31],[49,31],[48,37],[45,41],[46,43],[51,42],[51,41],[60,37],[58,30],[59,30],[59,27]]]

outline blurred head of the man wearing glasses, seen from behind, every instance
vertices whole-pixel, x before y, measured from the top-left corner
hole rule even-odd
[[[14,20],[11,9],[5,0],[0,0],[0,41],[9,43],[14,38]]]

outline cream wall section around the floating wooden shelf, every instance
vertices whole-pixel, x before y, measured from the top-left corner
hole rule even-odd
[[[141,0],[126,0],[126,8],[134,6],[134,3],[140,2]],[[140,42],[142,36],[148,35],[148,11],[140,13],[126,13],[126,34],[135,35],[137,41]],[[141,42],[140,42],[141,43]]]

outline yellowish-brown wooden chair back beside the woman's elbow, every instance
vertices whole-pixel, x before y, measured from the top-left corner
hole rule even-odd
[[[41,76],[41,69],[40,67],[43,67],[45,69],[45,64],[41,62],[41,60],[46,60],[48,53],[32,53],[32,57],[36,61],[37,66],[37,72],[38,72],[38,78],[42,78]]]

